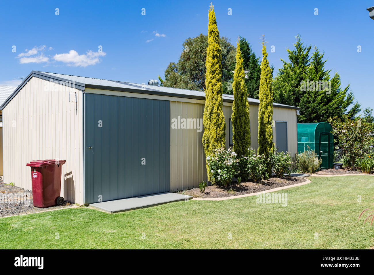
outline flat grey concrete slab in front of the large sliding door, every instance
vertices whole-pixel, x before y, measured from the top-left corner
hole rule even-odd
[[[126,199],[117,199],[115,201],[95,202],[94,204],[90,204],[90,206],[108,213],[117,213],[166,204],[168,202],[188,201],[192,198],[192,196],[165,192]]]

